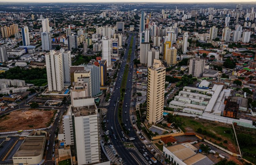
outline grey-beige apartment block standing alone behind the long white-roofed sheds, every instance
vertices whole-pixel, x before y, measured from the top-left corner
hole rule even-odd
[[[200,57],[195,57],[189,60],[188,74],[192,74],[195,77],[202,77],[205,70],[205,60]]]

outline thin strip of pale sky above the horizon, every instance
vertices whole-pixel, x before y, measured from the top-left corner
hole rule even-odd
[[[256,2],[256,0],[0,0],[0,2],[169,2],[169,3],[207,3],[207,2]]]

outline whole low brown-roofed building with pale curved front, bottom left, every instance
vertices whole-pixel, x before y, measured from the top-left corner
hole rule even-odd
[[[41,164],[46,143],[45,136],[27,136],[13,155],[14,165]]]

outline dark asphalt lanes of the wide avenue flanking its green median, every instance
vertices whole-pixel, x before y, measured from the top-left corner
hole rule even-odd
[[[118,104],[119,104],[119,100],[120,100],[120,86],[121,86],[121,82],[122,82],[122,75],[124,74],[124,67],[126,62],[125,59],[127,59],[128,56],[128,51],[129,51],[129,45],[131,42],[131,35],[129,35],[128,41],[127,41],[127,45],[128,45],[128,49],[126,49],[124,57],[122,59],[122,63],[121,63],[121,67],[119,70],[119,73],[117,75],[117,81],[114,87],[114,92],[112,94],[111,100],[110,100],[110,104],[107,112],[107,120],[109,120],[109,123],[107,124],[107,128],[110,131],[110,135],[112,135],[111,141],[112,144],[114,146],[114,148],[116,149],[118,155],[120,156],[120,158],[122,158],[122,163],[123,164],[127,164],[127,165],[134,165],[134,164],[149,164],[147,161],[144,161],[141,159],[140,155],[131,149],[126,149],[123,145],[123,141],[121,140],[121,138],[123,138],[122,136],[122,128],[118,122]],[[135,46],[136,46],[136,36],[134,36],[134,42],[133,42],[133,51],[135,52]],[[126,135],[126,137],[134,137],[135,140],[132,141],[132,143],[134,144],[134,146],[140,150],[143,149],[142,146],[144,146],[144,144],[141,142],[141,140],[139,139],[139,137],[137,136],[136,132],[134,131],[134,129],[132,127],[130,127],[130,125],[132,125],[131,123],[131,118],[130,118],[130,104],[131,104],[131,93],[132,93],[132,79],[133,79],[133,70],[134,70],[134,66],[133,66],[133,60],[134,60],[134,53],[132,53],[131,55],[131,63],[130,63],[130,67],[129,67],[129,72],[131,72],[131,74],[128,74],[127,77],[127,83],[126,83],[126,89],[125,90],[125,96],[124,96],[124,102],[123,102],[123,110],[122,110],[122,120],[123,123],[126,124],[126,129],[130,128],[131,131],[129,131],[129,133]],[[121,76],[121,77],[120,77]],[[120,80],[119,80],[120,78]],[[115,103],[116,101],[116,103]],[[127,103],[127,107],[126,107],[126,103]],[[125,113],[126,111],[126,113]],[[126,119],[128,121],[126,121]],[[113,133],[111,132],[111,126],[113,127],[113,133],[116,135],[117,139],[115,140],[113,137]],[[127,140],[127,142],[130,143],[129,140]],[[148,153],[148,158],[153,157],[152,154]],[[160,164],[159,162],[157,164]]]

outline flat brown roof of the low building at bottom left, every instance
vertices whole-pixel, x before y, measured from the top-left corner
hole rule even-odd
[[[32,157],[41,155],[45,136],[27,136],[13,157]]]

